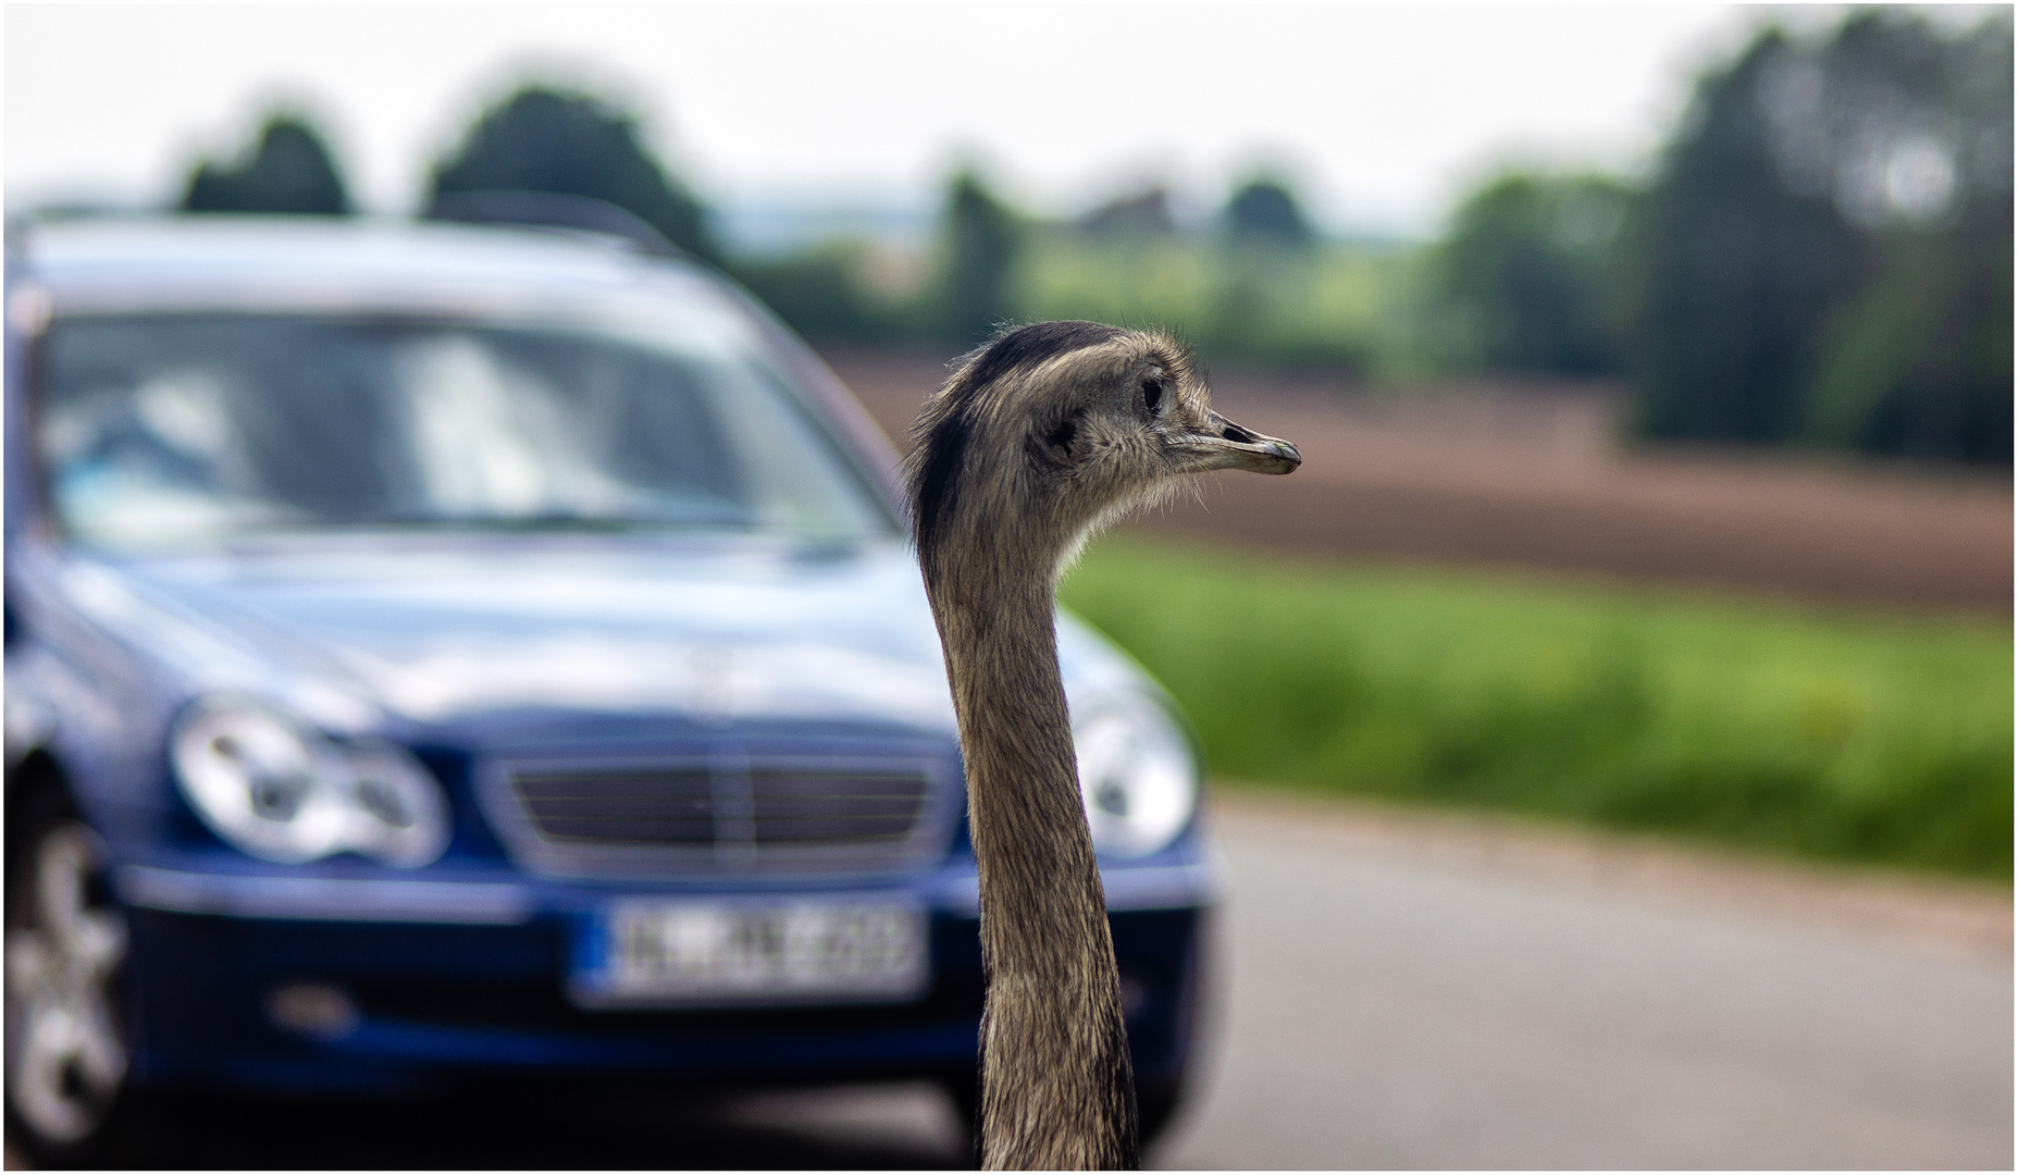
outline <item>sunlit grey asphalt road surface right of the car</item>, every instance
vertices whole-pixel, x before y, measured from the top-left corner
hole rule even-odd
[[[1927,941],[1851,929],[1883,892],[1796,917],[1774,878],[1709,892],[1354,852],[1285,814],[1221,828],[1223,1058],[1158,1165],[2012,1165],[2008,902],[1976,911],[1988,937]],[[1953,904],[1927,896],[1921,923]]]

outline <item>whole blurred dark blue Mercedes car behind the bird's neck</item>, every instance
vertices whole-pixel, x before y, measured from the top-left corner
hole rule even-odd
[[[924,390],[920,390],[922,394]],[[1144,1123],[1217,868],[1059,618]],[[16,228],[6,1112],[934,1078],[975,864],[894,458],[706,266],[579,230]]]

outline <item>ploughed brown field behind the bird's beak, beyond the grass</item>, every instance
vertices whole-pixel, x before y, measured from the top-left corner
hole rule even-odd
[[[934,357],[825,351],[902,446],[944,380]],[[1215,406],[1304,452],[1287,478],[1219,474],[1130,527],[1324,555],[1378,555],[2010,612],[2010,474],[1810,456],[1624,448],[1594,388],[1354,394],[1223,373]]]

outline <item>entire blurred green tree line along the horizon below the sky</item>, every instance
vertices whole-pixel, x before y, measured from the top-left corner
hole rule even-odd
[[[1209,359],[1407,382],[1461,371],[1616,380],[1651,438],[2012,460],[2012,18],[1943,28],[1861,10],[1760,32],[1697,79],[1643,178],[1507,172],[1427,244],[1326,240],[1292,184],[1251,176],[1205,228],[1148,188],[1076,220],[946,184],[916,281],[876,246],[722,248],[636,115],[529,85],[430,172],[426,214],[484,192],[624,208],[813,339],[965,349],[999,323],[1176,329]],[[202,162],[190,212],[343,214],[327,145],[276,115]]]

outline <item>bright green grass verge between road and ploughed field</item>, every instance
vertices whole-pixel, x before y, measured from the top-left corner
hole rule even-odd
[[[2010,882],[2012,630],[1098,543],[1063,604],[1217,777]]]

